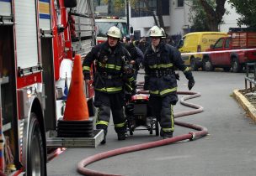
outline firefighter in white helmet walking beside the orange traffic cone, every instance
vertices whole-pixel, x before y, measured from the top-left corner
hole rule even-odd
[[[83,60],[85,80],[90,79],[90,65],[95,60],[94,106],[98,107],[96,128],[104,130],[102,144],[106,142],[110,111],[112,112],[118,140],[125,140],[124,87],[128,87],[132,91],[131,85],[134,81],[132,67],[129,64],[131,56],[120,44],[122,37],[120,28],[110,27],[107,36],[107,41],[94,46]]]

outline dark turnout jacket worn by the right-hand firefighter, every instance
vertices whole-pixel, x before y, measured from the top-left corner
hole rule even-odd
[[[193,80],[193,75],[184,65],[179,51],[169,44],[160,43],[154,51],[152,46],[147,48],[144,57],[145,85],[152,96],[173,95],[173,103],[176,104],[178,97],[175,68],[182,70],[188,80]]]

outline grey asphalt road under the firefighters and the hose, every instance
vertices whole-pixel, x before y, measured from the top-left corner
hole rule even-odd
[[[232,98],[234,89],[244,88],[244,73],[194,72],[192,91],[202,96],[189,102],[204,106],[204,111],[179,121],[206,127],[209,135],[195,141],[176,142],[167,146],[126,153],[92,163],[88,168],[129,176],[254,176],[256,175],[256,126]],[[138,80],[142,80],[139,75]],[[179,90],[188,91],[187,80],[180,73]],[[180,98],[181,96],[179,96]],[[178,102],[174,112],[189,110]],[[77,163],[96,153],[122,148],[160,137],[147,131],[136,131],[125,141],[118,141],[114,127],[109,126],[107,143],[98,148],[71,148],[47,163],[49,176],[73,176]],[[174,136],[191,130],[175,127]]]

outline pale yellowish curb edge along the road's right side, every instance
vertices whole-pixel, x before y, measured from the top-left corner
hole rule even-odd
[[[256,122],[256,108],[239,92],[239,90],[234,90],[233,96],[246,111],[248,117]]]

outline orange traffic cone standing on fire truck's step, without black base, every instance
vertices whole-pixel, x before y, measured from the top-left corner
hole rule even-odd
[[[72,80],[63,116],[64,121],[88,120],[88,105],[83,90],[83,71],[81,65],[81,55],[76,54],[72,69]]]

